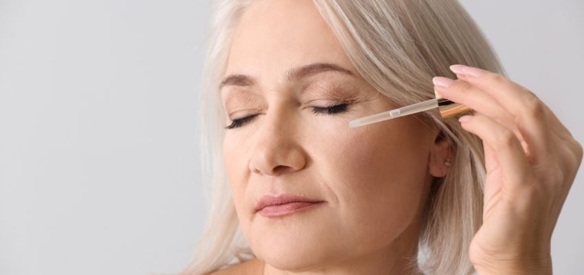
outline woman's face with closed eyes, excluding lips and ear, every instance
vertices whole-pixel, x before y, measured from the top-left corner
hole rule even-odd
[[[308,270],[417,245],[438,131],[412,116],[349,128],[396,106],[359,76],[312,1],[251,5],[225,79],[233,127],[224,161],[258,259]],[[261,197],[284,193],[324,202],[280,217],[256,212]]]

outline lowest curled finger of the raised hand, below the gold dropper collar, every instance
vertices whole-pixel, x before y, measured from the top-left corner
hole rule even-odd
[[[493,150],[503,171],[506,188],[515,191],[530,184],[531,166],[513,131],[482,114],[464,115],[460,118],[460,125],[478,135]]]

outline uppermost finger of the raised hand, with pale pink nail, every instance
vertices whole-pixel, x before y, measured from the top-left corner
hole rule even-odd
[[[531,91],[506,77],[475,67],[452,65],[451,70],[464,81],[493,97],[513,115],[514,122],[533,155],[549,151],[546,109]]]

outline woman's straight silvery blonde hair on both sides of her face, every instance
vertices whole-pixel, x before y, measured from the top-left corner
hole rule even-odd
[[[434,98],[433,76],[456,78],[449,65],[504,74],[495,52],[456,0],[313,0],[357,71],[398,105]],[[225,114],[218,84],[232,35],[253,0],[214,2],[203,92],[201,152],[210,214],[192,261],[181,275],[202,275],[254,258],[238,223],[223,167]],[[482,223],[484,152],[478,137],[456,119],[427,114],[451,142],[449,175],[436,178],[418,241],[417,268],[425,274],[470,274],[469,245]],[[207,201],[209,203],[209,201]]]

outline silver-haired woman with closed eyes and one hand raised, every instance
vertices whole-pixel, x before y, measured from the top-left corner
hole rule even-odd
[[[551,274],[582,147],[456,1],[216,4],[213,208],[181,274]],[[348,126],[434,90],[473,115]]]

